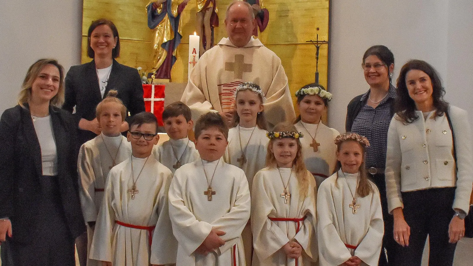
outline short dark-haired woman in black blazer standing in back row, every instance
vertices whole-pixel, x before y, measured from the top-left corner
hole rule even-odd
[[[81,144],[100,134],[95,108],[111,89],[118,91],[118,98],[131,115],[145,111],[143,87],[138,70],[117,62],[120,55],[120,38],[114,23],[106,19],[93,21],[88,29],[87,54],[91,62],[72,66],[66,75],[65,102],[62,107],[75,116]],[[128,120],[128,119],[127,119]],[[128,122],[122,124],[122,132]]]

